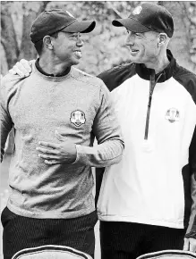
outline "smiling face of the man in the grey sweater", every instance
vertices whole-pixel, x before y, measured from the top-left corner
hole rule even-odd
[[[64,63],[67,67],[77,65],[81,60],[81,34],[65,32],[63,30],[58,32],[58,37],[53,38],[54,56],[59,63]]]

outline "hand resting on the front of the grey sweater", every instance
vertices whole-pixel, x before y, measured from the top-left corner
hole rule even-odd
[[[47,164],[74,163],[77,156],[76,146],[70,140],[61,143],[39,141],[38,156]]]

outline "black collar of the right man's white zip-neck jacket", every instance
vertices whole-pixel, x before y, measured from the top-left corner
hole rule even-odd
[[[168,49],[166,50],[166,54],[167,54],[167,57],[168,57],[168,60],[170,61],[170,63],[166,66],[166,68],[163,71],[160,71],[158,74],[155,75],[155,80],[157,80],[159,77],[159,79],[158,79],[159,83],[164,82],[167,79],[170,79],[173,76],[174,71],[175,71],[176,61],[175,61],[173,54]],[[155,73],[154,70],[148,69],[142,63],[136,64],[136,72],[141,77],[141,79],[145,79],[145,80],[149,80],[150,75],[152,73]]]

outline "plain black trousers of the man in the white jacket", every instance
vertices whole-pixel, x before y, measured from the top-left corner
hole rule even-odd
[[[131,222],[100,221],[101,259],[135,259],[166,249],[183,249],[185,230]]]

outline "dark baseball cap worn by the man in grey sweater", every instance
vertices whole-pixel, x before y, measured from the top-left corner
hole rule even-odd
[[[64,29],[66,32],[87,33],[96,26],[96,21],[78,21],[71,13],[63,9],[54,9],[40,13],[33,22],[30,38],[33,43],[47,35]]]

